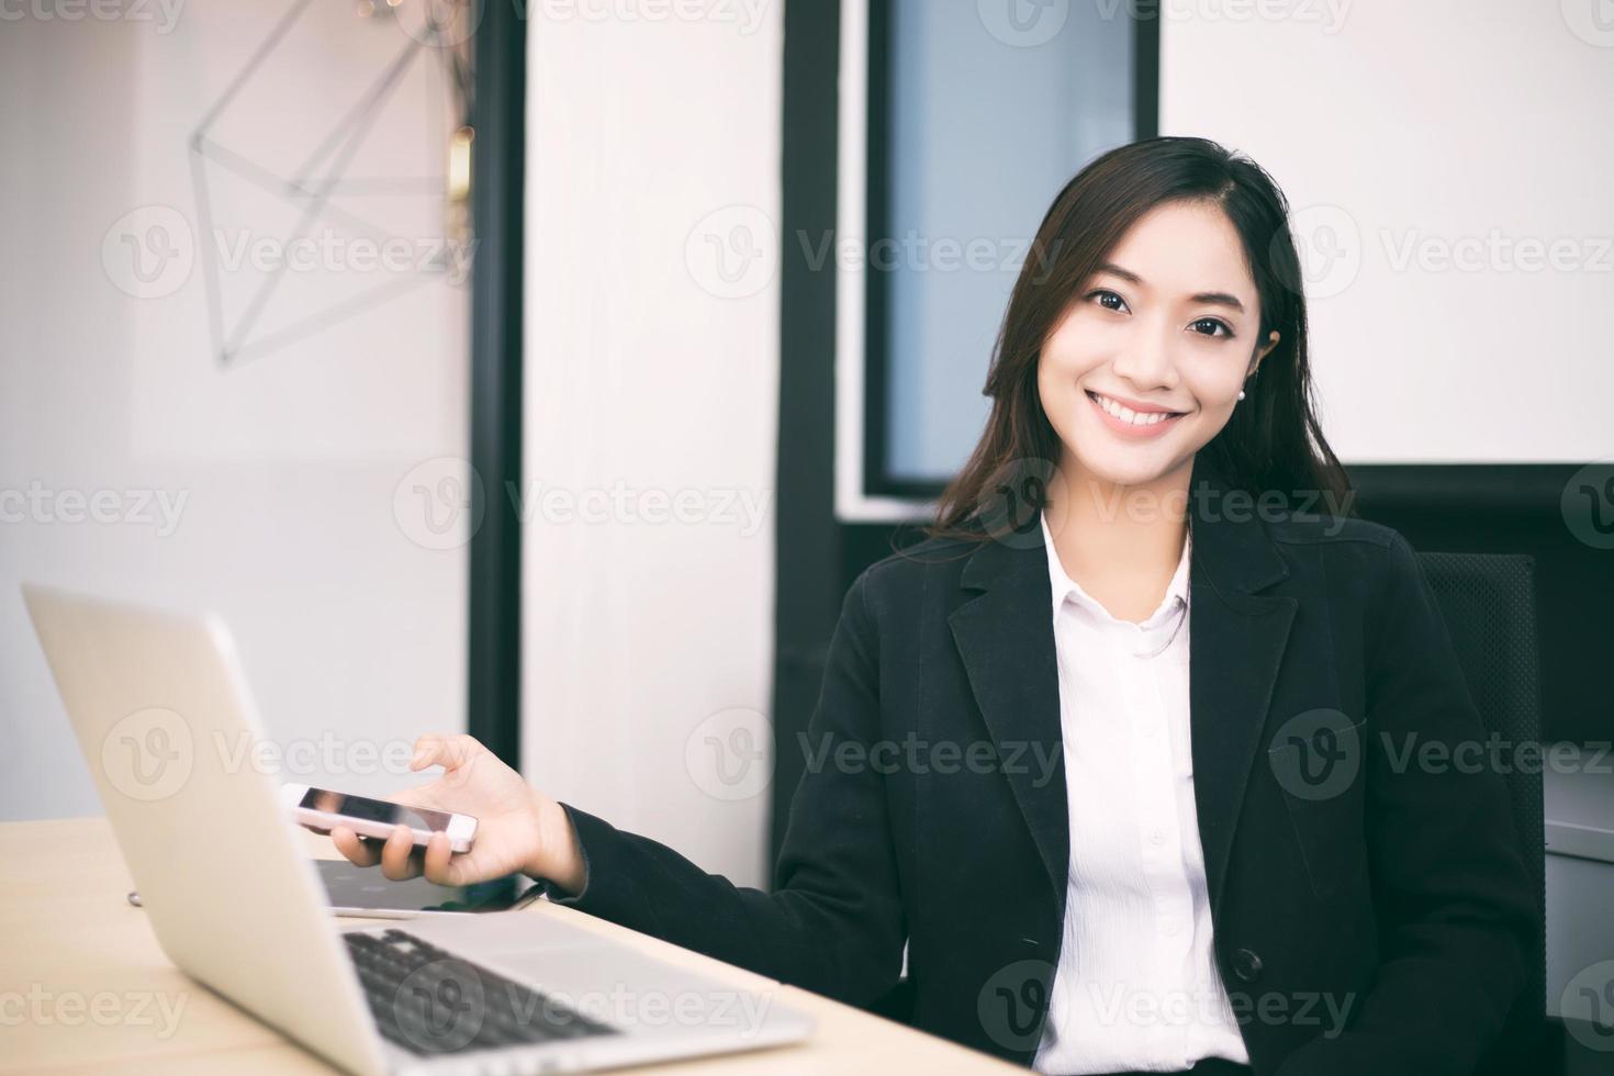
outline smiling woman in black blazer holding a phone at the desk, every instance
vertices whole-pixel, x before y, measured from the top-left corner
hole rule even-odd
[[[445,773],[400,799],[475,850],[336,844],[859,1005],[905,944],[915,1026],[1041,1071],[1474,1071],[1535,903],[1499,776],[1403,750],[1482,731],[1412,550],[1349,516],[1282,194],[1152,139],[1033,250],[931,537],[846,595],[775,892],[470,737],[423,737]]]

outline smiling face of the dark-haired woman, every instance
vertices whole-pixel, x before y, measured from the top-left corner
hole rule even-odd
[[[1215,205],[1170,202],[1127,232],[1043,344],[1036,381],[1060,469],[1143,486],[1191,463],[1233,415],[1261,307],[1238,231]]]

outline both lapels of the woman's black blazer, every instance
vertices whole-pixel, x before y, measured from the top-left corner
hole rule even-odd
[[[1204,452],[1196,455],[1188,505],[1194,529],[1190,728],[1199,839],[1215,903],[1296,608],[1294,598],[1256,594],[1288,569],[1256,518],[1254,500],[1230,502],[1230,492],[1223,471]],[[960,586],[981,594],[955,608],[947,624],[997,757],[1025,760],[1043,752],[1054,760],[1052,778],[1041,787],[1030,765],[1006,766],[1006,778],[1064,910],[1070,832],[1041,529],[981,542]]]

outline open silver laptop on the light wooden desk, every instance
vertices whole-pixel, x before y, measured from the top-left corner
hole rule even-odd
[[[163,952],[353,1073],[560,1073],[796,1042],[802,1013],[552,916],[341,931],[274,782],[229,634],[24,586]],[[228,747],[221,747],[228,745]]]

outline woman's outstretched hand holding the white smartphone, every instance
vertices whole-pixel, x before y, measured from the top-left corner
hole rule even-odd
[[[583,853],[571,820],[510,766],[470,736],[423,736],[415,740],[410,769],[442,766],[442,776],[391,797],[394,803],[429,807],[476,816],[470,852],[450,852],[449,836],[436,832],[424,852],[415,849],[408,826],[397,826],[386,842],[360,840],[347,826],[331,829],[331,842],[358,866],[381,863],[392,881],[424,874],[439,886],[529,874],[567,892],[583,889]]]

